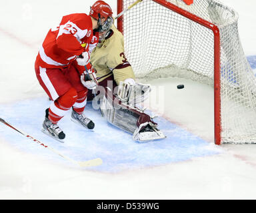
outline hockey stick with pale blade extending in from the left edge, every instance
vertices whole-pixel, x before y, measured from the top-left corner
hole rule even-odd
[[[26,136],[27,138],[33,140],[34,142],[37,142],[37,144],[45,147],[45,148],[48,148],[49,150],[55,152],[55,154],[58,154],[59,156],[65,158],[66,160],[69,160],[70,162],[73,162],[74,164],[79,164],[79,166],[81,167],[85,167],[85,166],[99,166],[100,164],[103,163],[103,161],[101,160],[101,158],[95,158],[95,159],[92,159],[92,160],[87,160],[87,161],[76,161],[76,160],[73,160],[67,156],[64,156],[63,154],[61,154],[60,152],[57,152],[57,150],[51,148],[51,146],[47,146],[45,144],[43,144],[41,141],[33,138],[33,136],[30,136],[29,134],[25,133],[25,132],[22,132],[21,130],[19,130],[18,128],[15,128],[12,124],[10,124],[9,122],[3,120],[3,118],[0,118],[0,122],[2,122],[3,124],[13,128],[14,130],[16,130],[17,132],[23,134],[24,136]]]

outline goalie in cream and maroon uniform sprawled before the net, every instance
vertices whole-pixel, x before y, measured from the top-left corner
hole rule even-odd
[[[135,82],[135,75],[125,58],[123,35],[109,19],[99,33],[99,44],[91,53],[91,64],[99,86],[89,91],[87,101],[100,102],[101,113],[111,124],[133,134],[133,140],[165,138],[157,123],[139,107],[151,91],[149,85]]]

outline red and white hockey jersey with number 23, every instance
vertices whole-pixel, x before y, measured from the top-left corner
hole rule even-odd
[[[84,51],[91,53],[98,41],[99,33],[93,35],[93,24],[89,15],[66,15],[58,27],[50,29],[47,33],[35,65],[53,69],[65,67]]]

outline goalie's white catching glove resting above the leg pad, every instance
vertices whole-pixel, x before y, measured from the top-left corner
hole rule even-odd
[[[135,83],[133,79],[125,79],[125,81],[120,81],[119,83],[117,97],[123,103],[135,106],[147,100],[150,91],[150,85]]]

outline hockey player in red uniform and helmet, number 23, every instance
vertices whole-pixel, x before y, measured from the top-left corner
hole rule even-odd
[[[95,124],[83,114],[88,89],[97,86],[91,68],[90,55],[99,41],[99,31],[105,20],[112,16],[111,7],[104,1],[96,1],[90,14],[74,13],[62,18],[56,28],[47,33],[35,61],[37,79],[53,101],[45,110],[43,132],[63,140],[65,134],[57,122],[69,108],[71,119],[86,128]],[[91,79],[85,79],[84,67]]]

